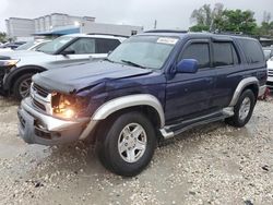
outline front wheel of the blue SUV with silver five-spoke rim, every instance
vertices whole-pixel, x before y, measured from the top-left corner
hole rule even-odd
[[[119,176],[133,177],[151,161],[156,134],[151,121],[142,113],[123,113],[100,126],[100,131],[96,152],[106,169]]]

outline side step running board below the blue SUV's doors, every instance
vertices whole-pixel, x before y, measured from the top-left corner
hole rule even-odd
[[[224,120],[225,118],[229,118],[234,116],[234,108],[228,107],[223,109],[219,112],[214,112],[211,114],[202,116],[197,119],[188,120],[188,121],[182,121],[179,124],[171,124],[168,126],[164,126],[161,129],[161,133],[164,137],[164,140],[168,140],[174,137],[175,135],[181,134],[182,132],[190,130],[194,126],[202,125],[202,124],[207,124],[211,122]]]

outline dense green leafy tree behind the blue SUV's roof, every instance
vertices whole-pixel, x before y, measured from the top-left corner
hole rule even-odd
[[[215,28],[219,32],[256,35],[258,25],[252,11],[224,10],[222,15],[215,19]]]

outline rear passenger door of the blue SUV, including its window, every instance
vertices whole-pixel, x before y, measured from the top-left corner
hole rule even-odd
[[[212,41],[212,60],[216,70],[213,106],[217,109],[228,107],[240,81],[242,70],[238,48],[232,40]]]

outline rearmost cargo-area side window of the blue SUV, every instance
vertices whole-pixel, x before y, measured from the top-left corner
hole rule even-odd
[[[261,45],[256,40],[240,39],[248,63],[259,63],[264,61]]]

